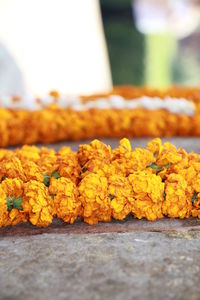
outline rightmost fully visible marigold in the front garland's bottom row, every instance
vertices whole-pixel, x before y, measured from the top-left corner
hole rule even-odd
[[[192,209],[192,189],[180,174],[170,174],[165,181],[163,214],[170,218],[188,218]]]

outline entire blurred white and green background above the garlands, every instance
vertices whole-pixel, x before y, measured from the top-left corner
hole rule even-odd
[[[200,0],[0,0],[0,95],[200,85]]]

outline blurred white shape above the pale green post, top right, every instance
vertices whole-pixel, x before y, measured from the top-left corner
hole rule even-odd
[[[135,0],[136,25],[142,33],[190,35],[199,25],[199,5],[193,0]]]

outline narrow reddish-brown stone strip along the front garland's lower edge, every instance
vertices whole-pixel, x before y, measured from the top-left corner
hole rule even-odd
[[[190,218],[185,220],[163,218],[155,222],[145,219],[136,220],[131,216],[124,221],[112,220],[109,223],[99,223],[90,226],[78,220],[73,225],[54,219],[51,226],[38,228],[29,223],[21,223],[13,227],[4,227],[0,230],[1,237],[30,236],[39,234],[94,234],[94,233],[123,233],[123,232],[188,232],[200,231],[200,219]]]

